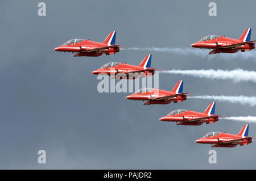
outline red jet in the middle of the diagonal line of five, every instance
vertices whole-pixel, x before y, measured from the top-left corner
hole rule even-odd
[[[182,92],[183,81],[177,82],[172,91],[165,91],[152,88],[143,88],[126,97],[130,100],[147,100],[144,105],[150,104],[170,104],[177,103],[187,99],[188,92]]]

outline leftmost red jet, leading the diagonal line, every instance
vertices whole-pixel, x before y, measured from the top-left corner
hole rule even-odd
[[[119,52],[120,45],[115,45],[115,36],[117,32],[113,31],[106,37],[102,43],[86,39],[72,39],[54,50],[59,52],[77,52],[74,57],[98,57],[102,53],[114,54]]]

